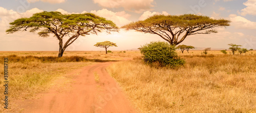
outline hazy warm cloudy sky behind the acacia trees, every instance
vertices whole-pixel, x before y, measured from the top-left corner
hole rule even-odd
[[[42,38],[30,32],[5,33],[15,19],[31,17],[42,11],[62,14],[90,12],[112,20],[119,27],[155,14],[190,13],[223,18],[231,21],[230,26],[218,27],[218,33],[188,36],[181,44],[227,49],[227,44],[234,43],[256,49],[256,0],[0,0],[0,51],[58,51],[58,40],[53,36]],[[102,32],[80,36],[66,50],[104,50],[93,46],[103,41],[117,44],[118,47],[109,50],[127,50],[164,40],[158,35],[120,29],[111,34]]]

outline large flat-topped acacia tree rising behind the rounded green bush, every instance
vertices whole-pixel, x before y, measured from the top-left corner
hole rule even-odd
[[[143,21],[131,22],[122,26],[125,30],[159,35],[171,45],[178,45],[187,36],[196,34],[217,33],[213,28],[229,26],[229,20],[212,19],[208,16],[193,14],[154,15]],[[182,35],[182,38],[179,37]]]

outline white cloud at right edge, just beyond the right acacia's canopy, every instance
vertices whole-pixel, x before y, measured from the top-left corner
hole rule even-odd
[[[250,21],[242,16],[237,16],[235,14],[229,15],[231,20],[231,25],[234,25],[236,29],[256,29],[256,22]]]

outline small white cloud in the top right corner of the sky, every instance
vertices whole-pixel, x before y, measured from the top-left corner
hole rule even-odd
[[[247,7],[241,10],[241,15],[256,15],[256,0],[248,0],[243,4]]]

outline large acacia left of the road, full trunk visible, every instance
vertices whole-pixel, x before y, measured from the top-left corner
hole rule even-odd
[[[7,34],[29,29],[30,32],[39,31],[40,37],[49,37],[53,34],[59,40],[58,57],[61,57],[65,49],[79,36],[90,35],[90,33],[97,35],[97,32],[102,30],[108,33],[118,31],[114,22],[92,13],[63,15],[60,12],[44,11],[35,13],[30,18],[16,19],[10,25],[6,30]],[[63,43],[63,38],[66,37],[68,40]]]

